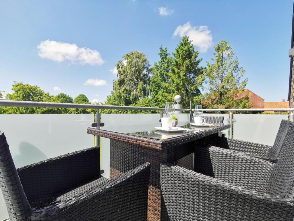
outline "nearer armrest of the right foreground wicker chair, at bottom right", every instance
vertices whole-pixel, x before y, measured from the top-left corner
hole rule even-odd
[[[160,169],[166,210],[162,210],[162,216],[171,220],[292,220],[294,217],[293,203],[287,199],[178,166],[161,164]]]

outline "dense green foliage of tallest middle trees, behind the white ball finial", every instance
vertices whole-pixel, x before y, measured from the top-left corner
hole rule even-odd
[[[200,95],[199,88],[204,81],[205,68],[200,67],[202,59],[195,51],[188,36],[184,36],[171,56],[167,49],[159,48],[160,61],[154,64],[151,77],[151,97],[158,107],[164,107],[175,95],[181,95],[183,107],[194,103]]]

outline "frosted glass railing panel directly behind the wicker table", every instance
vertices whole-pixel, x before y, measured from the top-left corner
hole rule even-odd
[[[181,114],[180,114],[181,115]],[[182,116],[181,116],[182,117]],[[103,130],[114,132],[140,132],[148,131],[154,127],[159,127],[159,113],[152,114],[101,114],[101,122],[105,126],[101,127]],[[181,118],[181,121],[184,119]],[[130,125],[132,125],[130,127]],[[110,141],[108,138],[101,138],[101,169],[104,170],[102,176],[109,178],[109,150]]]

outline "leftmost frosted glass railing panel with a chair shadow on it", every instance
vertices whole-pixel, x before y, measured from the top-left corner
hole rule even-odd
[[[0,114],[0,130],[17,168],[94,146],[87,134],[93,122],[93,114]],[[0,194],[0,220],[5,218]]]

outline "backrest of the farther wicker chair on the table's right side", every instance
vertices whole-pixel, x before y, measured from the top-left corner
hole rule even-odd
[[[281,147],[290,125],[291,125],[290,121],[286,121],[286,120],[281,121],[277,136],[275,138],[275,142],[273,144],[273,147],[269,151],[268,157],[277,158],[280,156],[281,151],[283,151]]]

